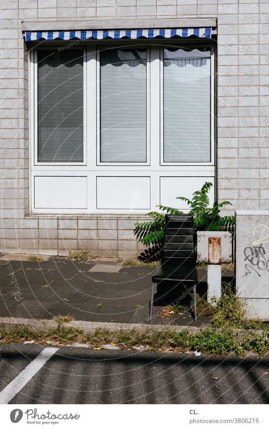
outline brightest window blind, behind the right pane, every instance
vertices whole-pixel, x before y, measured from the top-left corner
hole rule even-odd
[[[164,162],[210,162],[210,51],[164,49]]]

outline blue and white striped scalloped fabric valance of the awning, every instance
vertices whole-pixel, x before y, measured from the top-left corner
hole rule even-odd
[[[73,31],[25,31],[24,37],[27,42],[35,40],[119,40],[124,37],[128,39],[153,39],[161,37],[170,39],[173,37],[211,37],[211,27],[199,28],[148,28],[128,30],[73,30]]]

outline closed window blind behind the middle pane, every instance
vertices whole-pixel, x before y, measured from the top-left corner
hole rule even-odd
[[[100,53],[100,161],[147,161],[146,50]]]

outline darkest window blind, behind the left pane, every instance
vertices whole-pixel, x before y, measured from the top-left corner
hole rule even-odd
[[[38,162],[83,162],[83,50],[39,50]]]

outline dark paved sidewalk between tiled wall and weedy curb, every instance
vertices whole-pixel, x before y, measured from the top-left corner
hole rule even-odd
[[[189,311],[163,318],[162,308],[157,305],[153,307],[156,317],[150,321],[153,273],[154,269],[148,267],[125,267],[121,261],[79,263],[60,257],[41,263],[1,260],[0,315],[34,319],[71,315],[75,320],[92,322],[190,326],[207,322],[205,316],[199,316],[195,323]],[[203,295],[206,271],[198,271],[198,278],[197,290]],[[174,295],[180,293],[175,289]]]

